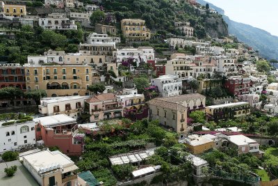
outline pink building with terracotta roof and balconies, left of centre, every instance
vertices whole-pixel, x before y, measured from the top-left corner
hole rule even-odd
[[[89,108],[90,121],[97,122],[113,118],[121,118],[122,102],[113,93],[95,95],[85,100],[85,109]]]

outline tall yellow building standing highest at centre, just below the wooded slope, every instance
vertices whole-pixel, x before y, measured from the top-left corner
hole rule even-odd
[[[145,41],[151,38],[145,20],[125,19],[121,21],[122,33],[127,41]]]

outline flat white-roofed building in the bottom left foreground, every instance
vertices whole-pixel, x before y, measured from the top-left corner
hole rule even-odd
[[[79,169],[60,151],[42,150],[22,157],[25,168],[40,185],[77,185]]]

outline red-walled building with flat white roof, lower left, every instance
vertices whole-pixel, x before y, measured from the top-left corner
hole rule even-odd
[[[35,118],[36,141],[42,140],[44,146],[58,146],[67,155],[81,155],[84,134],[79,134],[76,119],[65,114]]]

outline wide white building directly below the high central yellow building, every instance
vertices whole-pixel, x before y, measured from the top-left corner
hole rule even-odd
[[[117,51],[114,52],[114,56],[117,58],[117,63],[133,59],[133,61],[139,65],[140,62],[147,63],[147,60],[154,59],[154,48],[138,47],[117,49]]]

